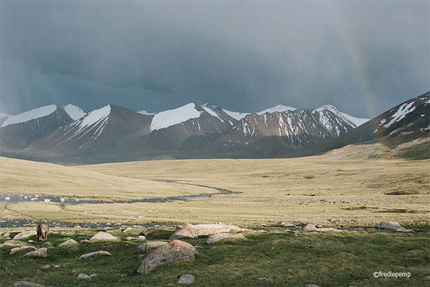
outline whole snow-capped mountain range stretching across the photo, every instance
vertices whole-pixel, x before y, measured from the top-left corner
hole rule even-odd
[[[0,116],[4,156],[50,161],[260,158],[312,155],[349,144],[428,138],[430,92],[364,119],[332,105],[278,105],[256,113],[210,104],[148,113],[106,105],[49,105]],[[97,158],[97,159],[96,159]],[[104,158],[104,159],[103,159]]]

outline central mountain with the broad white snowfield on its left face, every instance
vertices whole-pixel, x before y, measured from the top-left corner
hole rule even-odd
[[[127,149],[193,150],[216,140],[236,120],[222,108],[209,104],[187,104],[159,112],[151,122],[151,133]]]

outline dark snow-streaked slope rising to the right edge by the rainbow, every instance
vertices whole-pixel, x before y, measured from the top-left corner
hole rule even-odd
[[[418,138],[430,137],[430,92],[403,102],[372,118],[348,134],[342,135],[315,151],[322,152],[356,143],[381,142],[395,147]],[[423,145],[425,152],[428,146]],[[417,151],[418,152],[418,151]]]

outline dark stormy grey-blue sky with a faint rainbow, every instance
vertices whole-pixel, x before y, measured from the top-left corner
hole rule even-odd
[[[430,90],[428,1],[0,2],[0,111],[190,102],[371,118]]]

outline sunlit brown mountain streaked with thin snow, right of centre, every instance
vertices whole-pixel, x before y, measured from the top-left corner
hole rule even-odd
[[[275,156],[312,148],[356,127],[334,106],[248,114],[210,148],[214,155]]]

